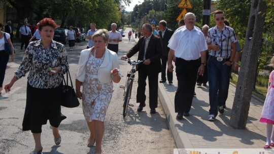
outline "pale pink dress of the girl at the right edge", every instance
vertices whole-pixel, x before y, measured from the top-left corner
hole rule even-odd
[[[273,85],[273,72],[269,75],[269,86],[266,94],[266,98],[263,104],[262,115],[260,122],[270,123],[274,125],[274,85]]]

